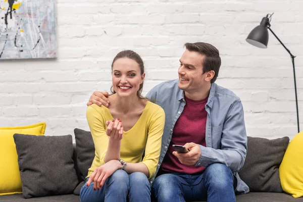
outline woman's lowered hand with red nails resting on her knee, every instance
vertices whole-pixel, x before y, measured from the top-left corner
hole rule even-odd
[[[86,186],[89,186],[90,183],[93,182],[93,190],[100,190],[104,185],[105,180],[120,168],[122,168],[122,165],[118,160],[109,161],[93,171],[91,176],[88,178]]]

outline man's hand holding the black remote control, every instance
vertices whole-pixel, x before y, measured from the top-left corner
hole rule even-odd
[[[186,143],[184,146],[189,150],[188,153],[177,153],[177,151],[174,151],[173,155],[179,159],[181,164],[194,166],[201,156],[200,146],[193,142]]]

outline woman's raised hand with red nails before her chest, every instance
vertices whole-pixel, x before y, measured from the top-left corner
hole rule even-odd
[[[123,137],[123,126],[122,121],[117,118],[116,120],[111,120],[106,122],[107,130],[106,134],[114,139],[114,140],[121,140]]]

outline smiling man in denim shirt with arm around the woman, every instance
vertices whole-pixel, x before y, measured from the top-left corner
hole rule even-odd
[[[179,79],[146,95],[166,114],[152,193],[158,201],[236,201],[235,192],[249,191],[237,174],[247,149],[243,107],[239,97],[215,83],[221,65],[218,49],[204,42],[185,47]],[[87,105],[108,106],[104,94],[94,92]],[[185,145],[189,152],[177,153],[173,144]]]

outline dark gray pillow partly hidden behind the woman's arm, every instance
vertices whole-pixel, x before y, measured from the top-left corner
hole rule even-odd
[[[95,157],[95,148],[89,131],[74,129],[77,149],[77,165],[83,181]]]

